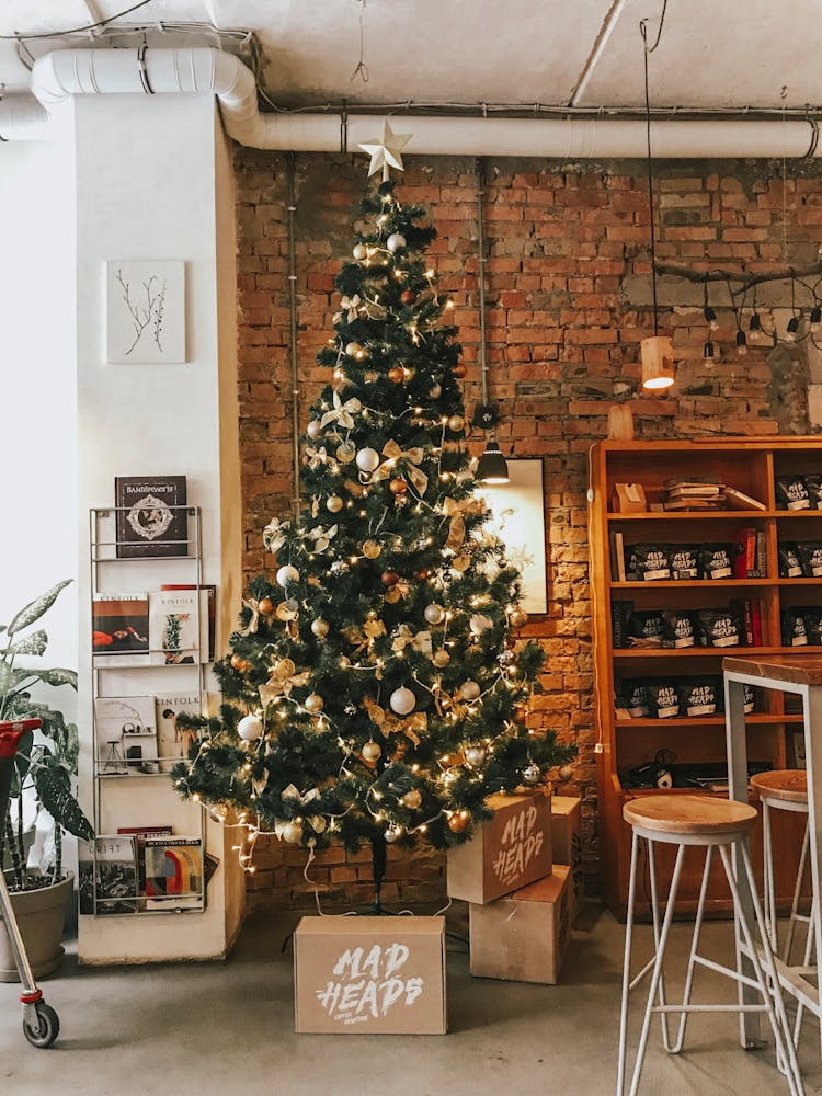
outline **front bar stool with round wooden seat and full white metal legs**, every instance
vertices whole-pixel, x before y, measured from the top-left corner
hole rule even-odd
[[[774,955],[770,940],[766,931],[762,905],[756,895],[753,866],[751,864],[750,834],[751,827],[756,820],[756,810],[746,803],[734,802],[733,800],[713,799],[709,796],[696,795],[666,795],[648,796],[630,800],[623,808],[623,817],[632,829],[631,841],[631,867],[628,884],[628,916],[625,929],[625,966],[623,968],[623,996],[621,1012],[619,1018],[619,1063],[617,1070],[617,1096],[625,1094],[625,1072],[626,1072],[626,1044],[628,1031],[628,1004],[630,993],[651,971],[651,984],[648,991],[644,1016],[642,1019],[642,1030],[637,1048],[637,1057],[633,1064],[633,1075],[629,1089],[629,1096],[636,1096],[639,1081],[642,1073],[646,1048],[648,1044],[648,1034],[651,1026],[651,1017],[654,1013],[660,1014],[662,1025],[662,1039],[665,1050],[676,1054],[682,1050],[685,1039],[685,1027],[690,1013],[716,1013],[733,1012],[740,1014],[745,1012],[764,1012],[767,1014],[770,1027],[774,1031],[776,1043],[777,1063],[785,1066],[788,1087],[794,1096],[801,1096],[804,1092],[802,1080],[797,1064],[794,1041],[790,1038],[785,1004],[783,1001],[779,980],[774,966]],[[633,936],[633,914],[637,893],[637,866],[639,842],[644,840],[648,846],[648,863],[651,879],[651,906],[653,914],[653,937],[655,951],[653,957],[646,963],[639,973],[631,979],[631,947]],[[665,915],[660,925],[660,903],[657,893],[657,871],[654,864],[654,846],[657,842],[666,845],[676,845],[676,859],[674,863],[671,889],[666,900]],[[680,875],[685,856],[685,849],[689,845],[705,848],[705,869],[699,890],[699,903],[694,925],[694,935],[690,944],[690,955],[688,959],[687,973],[685,978],[685,992],[682,1004],[669,1005],[665,998],[665,985],[663,975],[663,963],[665,947],[673,921],[674,905],[676,903],[676,892],[680,883]],[[705,899],[708,890],[708,877],[713,858],[713,852],[718,850],[722,860],[728,886],[733,897],[733,909],[735,918],[735,931],[741,933],[744,944],[750,955],[753,978],[742,974],[729,967],[721,966],[711,959],[697,954],[699,936],[703,927],[705,913]],[[762,939],[762,959],[757,951],[754,937],[754,926],[745,916],[744,905],[740,898],[740,891],[731,863],[731,849],[738,853],[738,864],[740,870],[744,872],[747,886],[750,887],[753,909]],[[690,1003],[690,993],[694,982],[694,970],[696,966],[707,967],[717,973],[724,974],[739,983],[740,989],[744,984],[751,989],[758,990],[762,998],[761,1004],[743,1004],[740,1000],[737,1004],[698,1004]],[[654,1004],[654,1002],[657,1002]],[[675,1042],[671,1041],[667,1017],[674,1013],[680,1016],[678,1031]]]

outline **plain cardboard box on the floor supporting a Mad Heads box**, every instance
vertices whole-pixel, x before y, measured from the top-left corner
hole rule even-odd
[[[571,935],[570,868],[491,905],[469,906],[471,974],[556,985]]]

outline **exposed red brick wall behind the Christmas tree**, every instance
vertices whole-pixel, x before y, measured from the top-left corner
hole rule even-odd
[[[288,511],[292,482],[292,381],[288,352],[287,157],[237,151],[240,307],[240,437],[248,576],[269,562],[261,530]],[[365,183],[365,161],[296,158],[296,267],[299,389],[306,408],[324,370],[317,350],[332,333],[333,277],[351,254],[352,215]],[[549,612],[527,632],[545,646],[545,694],[533,722],[579,746],[573,778],[557,788],[584,800],[586,869],[595,884],[596,769],[593,755],[591,619],[587,586],[587,453],[606,435],[607,408],[636,391],[639,341],[653,331],[648,254],[649,209],[643,163],[486,162],[487,349],[491,398],[501,402],[503,448],[545,465],[549,538]],[[718,264],[749,271],[815,261],[822,240],[822,171],[815,163],[667,162],[654,167],[659,201],[658,259],[694,269]],[[456,304],[470,410],[480,397],[477,366],[477,198],[473,162],[407,160],[401,201],[424,203],[438,231],[430,250],[441,286]],[[722,287],[711,289],[720,320],[713,335],[722,361],[706,373],[703,289],[658,279],[661,327],[673,329],[677,385],[667,397],[631,399],[637,436],[807,433],[804,344],[786,352],[752,347],[735,354],[735,320]],[[749,298],[744,302],[752,304]],[[763,287],[757,309],[783,326],[783,283]],[[479,442],[479,439],[477,439]],[[393,854],[393,850],[390,850]],[[443,858],[421,852],[409,861],[389,854],[385,899],[436,901],[444,894]],[[305,853],[261,838],[255,901],[305,905]],[[330,850],[310,878],[328,888],[328,904],[367,902],[367,853]]]

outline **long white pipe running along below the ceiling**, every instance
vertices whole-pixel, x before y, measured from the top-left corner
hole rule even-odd
[[[261,114],[254,78],[232,54],[210,48],[148,49],[144,70],[137,50],[65,49],[41,57],[32,91],[50,110],[77,94],[214,94],[226,132],[252,148],[296,152],[341,150],[339,114]],[[145,77],[145,82],[144,82]],[[7,102],[10,102],[7,100]],[[381,126],[373,115],[349,115],[346,148],[368,141]],[[619,118],[465,118],[399,115],[397,132],[413,135],[409,153],[422,156],[528,156],[548,159],[644,158],[646,123]],[[0,134],[5,136],[0,128]],[[658,121],[651,147],[658,159],[822,156],[812,148],[813,126],[804,121]],[[9,134],[9,136],[13,136]]]

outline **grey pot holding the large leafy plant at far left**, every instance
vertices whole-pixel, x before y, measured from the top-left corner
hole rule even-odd
[[[34,977],[54,974],[62,962],[62,926],[66,906],[73,890],[70,876],[50,887],[14,891],[11,904],[23,937]],[[0,916],[0,982],[19,982],[9,937]]]

